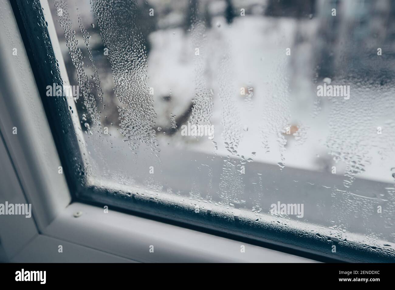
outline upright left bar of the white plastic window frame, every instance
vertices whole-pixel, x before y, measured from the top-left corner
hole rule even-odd
[[[0,0],[0,7],[1,131],[41,230],[71,196],[64,175],[58,173],[60,160],[11,5]]]

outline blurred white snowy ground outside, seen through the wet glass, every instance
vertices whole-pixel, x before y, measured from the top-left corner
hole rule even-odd
[[[381,91],[374,92],[368,85],[344,79],[337,80],[337,83],[351,86],[349,100],[341,97],[319,98],[316,86],[323,84],[322,80],[313,84],[311,78],[308,79],[308,73],[313,75],[314,69],[314,58],[311,57],[313,46],[310,43],[303,49],[295,48],[295,19],[250,16],[238,18],[228,26],[223,18],[218,17],[213,23],[217,25],[196,34],[194,31],[184,34],[181,29],[169,29],[150,35],[152,51],[148,75],[149,86],[155,88],[154,108],[158,114],[158,124],[169,126],[171,113],[178,116],[185,112],[195,95],[200,93],[202,88],[196,88],[195,82],[196,67],[199,73],[204,73],[204,89],[213,92],[213,114],[210,118],[215,129],[213,140],[186,138],[180,132],[167,137],[158,132],[160,143],[171,143],[207,154],[231,155],[224,145],[227,140],[221,137],[221,133],[224,124],[235,121],[233,129],[240,131],[237,154],[246,159],[271,164],[281,162],[307,170],[331,170],[332,166],[336,166],[337,173],[343,174],[352,156],[335,163],[332,160],[336,155],[333,151],[340,145],[327,144],[328,137],[339,134],[335,141],[344,142],[340,139],[352,136],[357,138],[357,142],[365,141],[367,146],[361,148],[361,144],[345,142],[344,145],[350,148],[342,148],[342,153],[352,155],[358,150],[367,150],[361,154],[369,155],[370,159],[363,164],[365,171],[358,177],[389,183],[393,181],[390,171],[393,167],[391,157],[394,155],[391,151],[393,122],[386,123],[392,118],[391,110],[376,111],[371,120],[366,120],[369,113],[363,114],[363,110],[373,109],[364,107],[372,98],[382,98],[380,102],[393,104],[392,88],[383,87]],[[314,21],[308,24],[317,25]],[[194,55],[194,41],[201,45],[199,56]],[[291,48],[291,56],[286,55],[288,47]],[[310,57],[306,58],[305,54]],[[293,67],[292,58],[303,58],[305,61]],[[199,67],[203,69],[199,70]],[[224,88],[230,95],[221,100],[221,90]],[[240,94],[241,88],[245,88],[246,95]],[[250,95],[248,88],[252,88]],[[163,101],[162,96],[169,94],[171,101]],[[224,100],[229,103],[225,105]],[[234,112],[226,111],[229,105]],[[355,110],[359,112],[353,113]],[[338,114],[344,114],[344,119],[333,117]],[[347,120],[349,116],[353,118],[351,123]],[[230,118],[235,120],[228,120]],[[367,123],[370,128],[366,127]],[[294,132],[286,134],[287,127],[292,125],[299,126],[295,136]],[[386,135],[377,134],[378,126],[385,128]],[[350,132],[344,127],[348,127]],[[384,157],[387,158],[380,155],[383,152],[378,150],[379,144],[385,144],[389,156]]]

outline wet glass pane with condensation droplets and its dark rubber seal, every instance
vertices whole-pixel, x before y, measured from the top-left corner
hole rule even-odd
[[[393,259],[392,2],[51,9],[63,60],[44,103],[68,111],[49,114],[77,200],[337,260]]]

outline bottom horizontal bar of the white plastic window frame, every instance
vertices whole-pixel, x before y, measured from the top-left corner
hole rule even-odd
[[[82,214],[74,217],[76,212]],[[138,262],[315,262],[79,202],[63,210],[43,234]]]

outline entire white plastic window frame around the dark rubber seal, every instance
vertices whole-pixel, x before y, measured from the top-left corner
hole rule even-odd
[[[12,1],[12,0],[11,0]],[[43,13],[60,71],[66,69]],[[0,202],[32,204],[32,218],[0,216],[3,262],[315,262],[195,230],[72,202],[9,0],[0,0]],[[13,56],[13,49],[17,56]],[[74,106],[70,102],[70,106]],[[75,107],[73,107],[74,112]],[[17,127],[17,134],[13,134]],[[76,213],[79,214],[76,214]],[[62,245],[62,253],[58,247]],[[154,251],[150,251],[150,249]],[[241,251],[242,246],[245,251]]]

